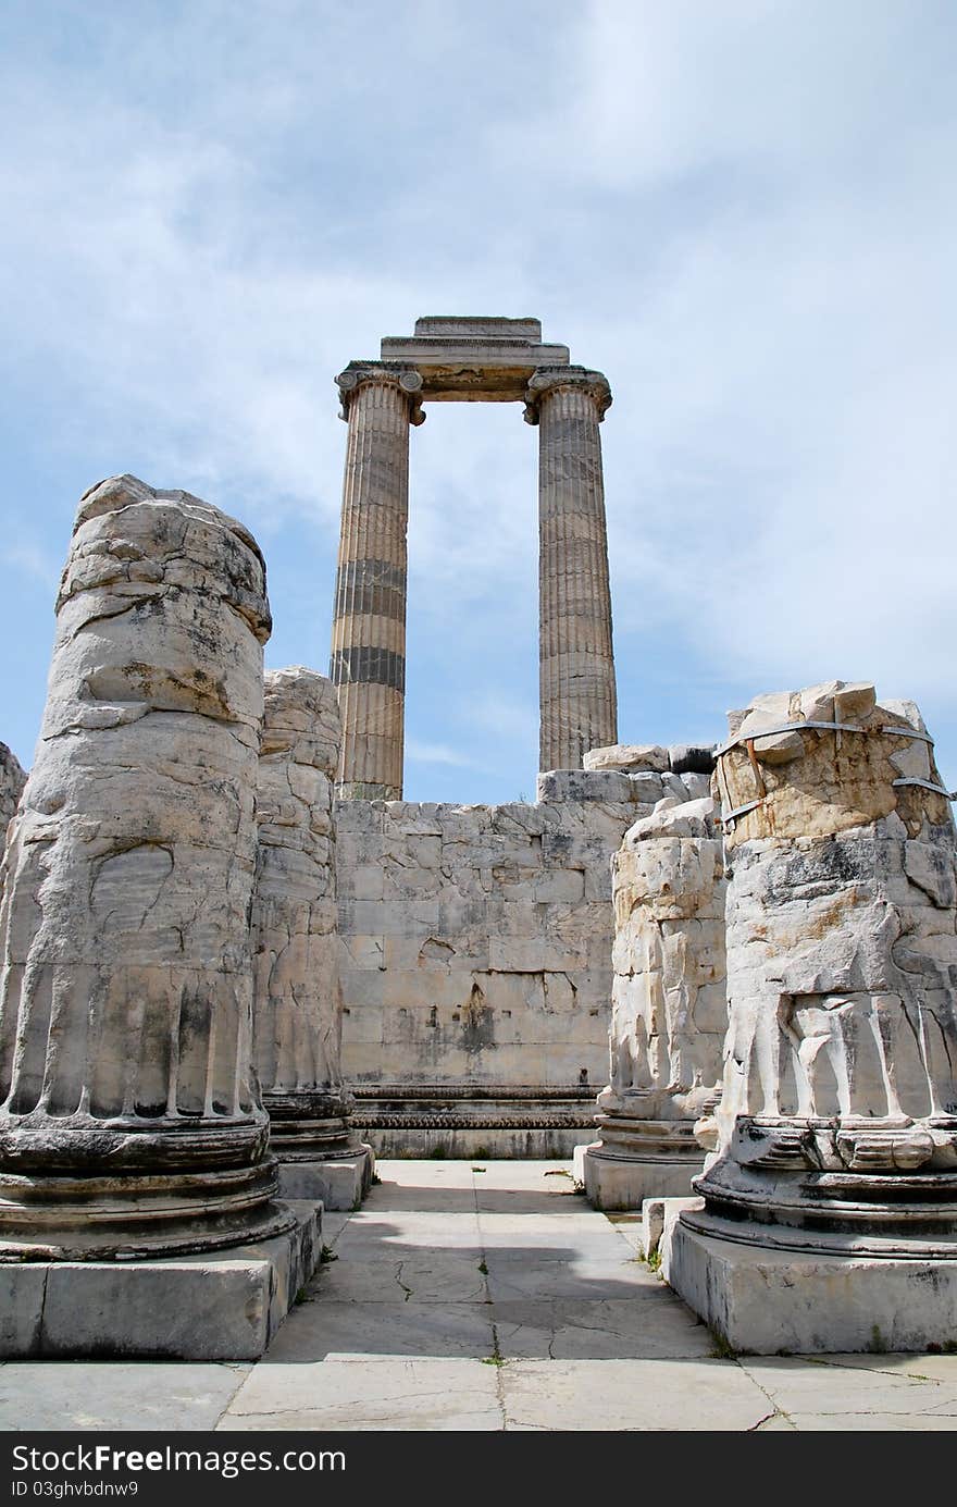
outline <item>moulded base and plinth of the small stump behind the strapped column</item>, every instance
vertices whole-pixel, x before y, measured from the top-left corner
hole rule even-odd
[[[601,1120],[601,1141],[579,1145],[574,1175],[594,1209],[641,1209],[645,1198],[692,1194],[692,1177],[704,1168],[693,1121]]]

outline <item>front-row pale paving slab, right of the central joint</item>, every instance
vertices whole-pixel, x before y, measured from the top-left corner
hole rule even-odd
[[[731,1361],[514,1361],[500,1370],[506,1429],[746,1432],[775,1414]]]

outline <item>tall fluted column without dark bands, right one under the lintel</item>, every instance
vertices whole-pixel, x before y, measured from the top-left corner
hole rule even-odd
[[[618,741],[604,482],[598,425],[612,401],[601,372],[540,368],[524,416],[538,423],[538,767],[582,769]]]

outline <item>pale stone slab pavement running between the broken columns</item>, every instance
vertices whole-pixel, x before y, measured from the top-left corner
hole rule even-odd
[[[719,1355],[567,1162],[378,1172],[262,1361],[11,1361],[0,1429],[957,1429],[957,1355]]]

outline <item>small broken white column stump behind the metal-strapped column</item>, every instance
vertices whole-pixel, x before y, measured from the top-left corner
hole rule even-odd
[[[662,802],[612,859],[610,1070],[601,1139],[576,1153],[601,1209],[687,1194],[702,1168],[695,1121],[720,1091],[725,877],[710,799]]]

